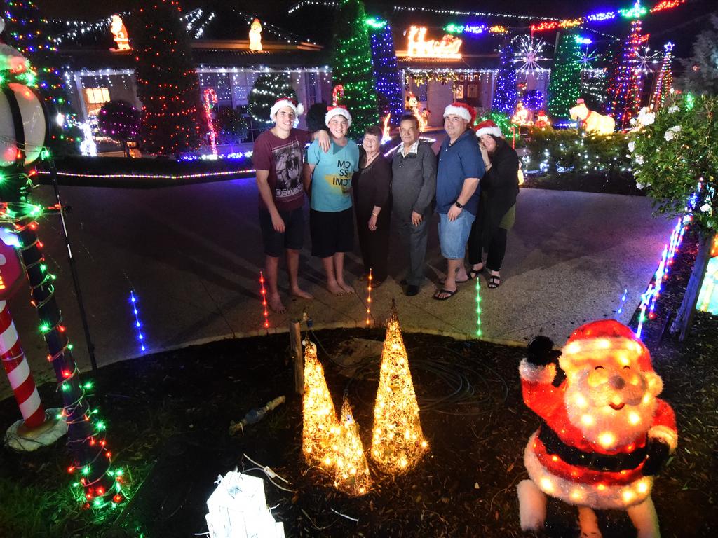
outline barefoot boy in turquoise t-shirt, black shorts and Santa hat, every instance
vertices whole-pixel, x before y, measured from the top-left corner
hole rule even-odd
[[[327,153],[314,142],[307,148],[304,189],[309,192],[309,233],[312,255],[322,258],[327,289],[335,295],[354,293],[344,281],[344,253],[354,249],[352,174],[359,169],[359,146],[347,138],[352,116],[343,106],[330,107],[325,116],[332,147]]]

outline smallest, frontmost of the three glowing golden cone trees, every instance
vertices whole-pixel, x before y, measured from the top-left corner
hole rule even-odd
[[[369,466],[364,456],[364,445],[359,437],[359,426],[354,420],[346,395],[339,422],[334,487],[348,495],[364,495],[369,492],[371,486]]]

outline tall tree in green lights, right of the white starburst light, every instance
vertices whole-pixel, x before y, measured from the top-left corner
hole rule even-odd
[[[569,109],[580,97],[581,64],[577,61],[580,54],[581,47],[576,42],[576,34],[561,34],[549,81],[549,114],[554,118],[568,118]]]

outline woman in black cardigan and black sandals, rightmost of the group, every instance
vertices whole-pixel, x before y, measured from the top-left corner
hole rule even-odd
[[[507,232],[516,220],[518,155],[495,134],[481,134],[479,145],[486,171],[479,184],[479,210],[469,236],[469,278],[483,270],[482,251],[487,249],[488,287],[498,288]]]

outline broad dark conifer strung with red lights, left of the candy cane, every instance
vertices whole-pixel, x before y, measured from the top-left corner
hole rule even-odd
[[[177,0],[157,0],[136,11],[137,97],[143,103],[141,138],[151,154],[180,154],[200,146],[200,81]]]

